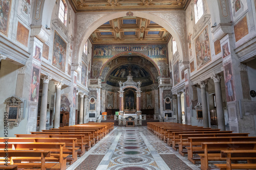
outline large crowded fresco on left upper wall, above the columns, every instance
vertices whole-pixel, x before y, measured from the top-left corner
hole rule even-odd
[[[67,43],[54,31],[52,65],[65,71]]]

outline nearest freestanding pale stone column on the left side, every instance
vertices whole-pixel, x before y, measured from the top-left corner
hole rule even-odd
[[[42,79],[42,98],[41,98],[41,108],[40,108],[39,132],[41,130],[46,130],[48,86],[51,78],[49,76],[42,76],[41,79]]]

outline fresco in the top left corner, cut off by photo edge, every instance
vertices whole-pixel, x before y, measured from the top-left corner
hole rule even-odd
[[[8,35],[8,27],[11,13],[11,0],[1,1],[1,15],[0,15],[0,32],[4,35]]]

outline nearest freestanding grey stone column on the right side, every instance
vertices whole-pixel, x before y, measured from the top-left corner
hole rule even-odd
[[[218,129],[225,131],[226,127],[225,127],[225,117],[224,117],[223,103],[222,103],[221,76],[214,75],[214,76],[211,76],[211,79],[214,80],[214,85],[215,85]]]

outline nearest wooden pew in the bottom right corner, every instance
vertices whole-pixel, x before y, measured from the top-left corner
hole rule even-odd
[[[256,169],[256,163],[250,163],[256,159],[256,150],[224,150],[221,157],[226,158],[226,163],[214,164],[222,169]],[[247,163],[231,163],[232,160],[247,160]]]

